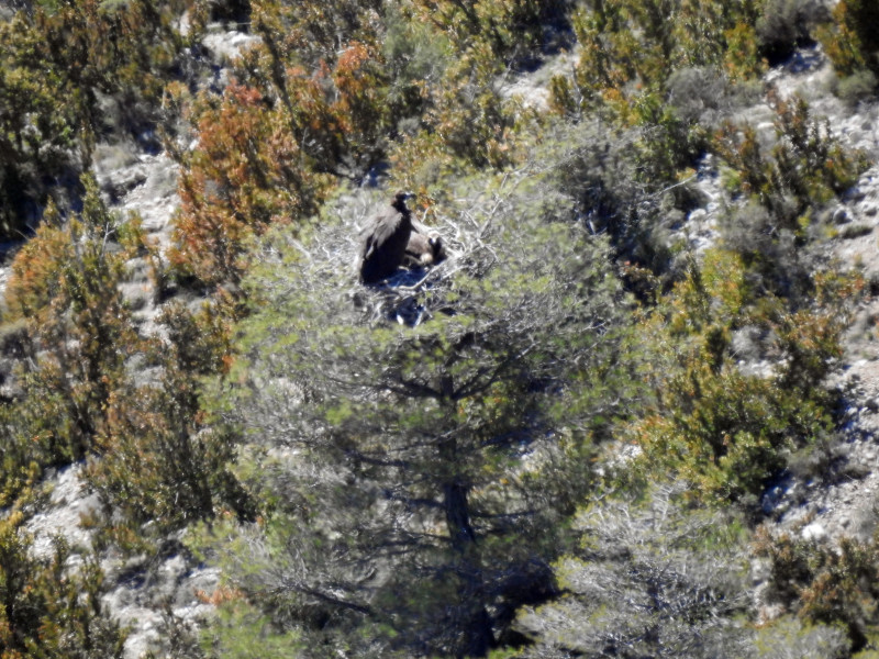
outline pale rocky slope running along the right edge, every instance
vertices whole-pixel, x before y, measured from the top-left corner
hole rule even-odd
[[[833,71],[817,49],[800,54],[767,76],[780,93],[798,93],[835,135],[879,161],[879,104],[846,107],[827,92]],[[879,167],[867,170],[832,211],[837,236],[828,255],[859,270],[870,293],[845,335],[845,354],[831,383],[844,392],[841,443],[828,447],[827,469],[779,484],[764,500],[785,529],[833,541],[872,537],[879,520]]]

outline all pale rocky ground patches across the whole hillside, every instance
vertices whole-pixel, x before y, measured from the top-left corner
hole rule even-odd
[[[223,58],[246,43],[245,35],[218,32],[211,37]],[[552,67],[570,66],[570,55],[563,54]],[[508,80],[507,91],[542,110],[546,103],[546,70]],[[879,105],[853,110],[827,92],[832,72],[817,51],[806,51],[787,66],[772,70],[767,83],[782,94],[804,96],[815,114],[830,118],[831,129],[853,146],[865,149],[879,160]],[[757,121],[771,122],[768,105],[754,108]],[[764,119],[760,119],[764,118]],[[752,120],[753,121],[753,120]],[[166,155],[131,155],[105,146],[98,150],[96,174],[108,201],[122,213],[136,212],[151,238],[167,246],[170,223],[179,203],[176,193],[177,170]],[[717,171],[710,161],[700,168],[697,185],[704,204],[692,211],[681,232],[691,248],[699,253],[716,237],[715,226],[722,212],[722,188]],[[839,208],[833,211],[838,236],[831,243],[831,254],[846,267],[863,269],[879,293],[879,167],[867,171]],[[144,264],[132,264],[132,281],[125,294],[136,310],[142,331],[156,331],[157,312],[152,283]],[[0,281],[4,275],[0,273]],[[792,478],[769,492],[764,506],[780,528],[793,529],[816,539],[833,541],[842,535],[863,539],[876,529],[879,495],[879,294],[858,310],[846,336],[846,353],[835,386],[846,392],[846,424],[843,439],[828,448],[830,467],[821,474]],[[81,466],[55,473],[46,483],[48,504],[30,522],[34,550],[51,550],[51,538],[64,535],[71,545],[87,548],[90,532],[80,524],[98,507],[97,498],[84,490]],[[180,538],[170,538],[167,550],[147,563],[144,559],[122,560],[108,555],[104,569],[114,584],[105,604],[131,626],[126,657],[136,659],[158,643],[168,616],[182,624],[197,624],[210,612],[205,593],[219,582],[215,569],[199,565],[182,548]]]

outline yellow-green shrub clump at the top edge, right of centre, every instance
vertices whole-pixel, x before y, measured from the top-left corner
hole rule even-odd
[[[638,126],[642,180],[652,187],[677,182],[706,149],[717,121],[710,110],[728,102],[731,94],[711,94],[711,87],[721,91],[719,80],[724,87],[724,80],[747,80],[761,70],[752,14],[747,3],[585,3],[572,19],[580,43],[572,81],[555,79],[550,101],[568,114],[597,110]],[[697,71],[710,71],[702,77],[711,87],[683,96]]]

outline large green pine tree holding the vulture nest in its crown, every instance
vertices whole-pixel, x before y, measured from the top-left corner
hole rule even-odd
[[[400,291],[354,289],[316,256],[327,230],[252,280],[266,297],[225,404],[275,461],[259,479],[277,509],[242,583],[322,647],[485,656],[555,592],[625,304],[603,239],[496,201],[412,293],[416,326],[394,322]]]

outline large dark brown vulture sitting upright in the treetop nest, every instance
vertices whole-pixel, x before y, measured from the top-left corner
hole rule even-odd
[[[405,208],[411,192],[398,192],[390,206],[379,212],[361,234],[360,281],[376,283],[387,279],[403,263],[412,234],[412,212]]]

